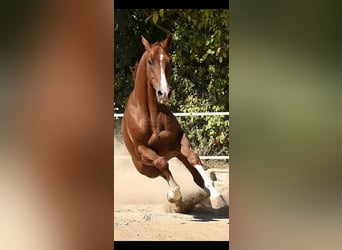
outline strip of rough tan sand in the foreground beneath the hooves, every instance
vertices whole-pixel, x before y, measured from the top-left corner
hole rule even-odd
[[[168,213],[162,204],[115,209],[114,240],[229,240],[229,219],[209,213]]]

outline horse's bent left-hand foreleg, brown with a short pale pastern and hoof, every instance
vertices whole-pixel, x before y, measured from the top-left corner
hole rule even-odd
[[[180,187],[174,180],[166,159],[144,145],[138,146],[138,153],[141,155],[141,159],[143,162],[145,162],[146,164],[152,164],[156,168],[158,168],[161,172],[161,176],[169,184],[170,190],[167,193],[168,201],[171,203],[180,201],[182,198]]]

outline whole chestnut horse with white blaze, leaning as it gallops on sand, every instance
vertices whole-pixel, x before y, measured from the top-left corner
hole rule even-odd
[[[165,105],[170,94],[171,58],[168,49],[171,35],[154,44],[143,36],[141,39],[145,52],[136,67],[135,86],[121,123],[124,143],[132,161],[141,174],[150,178],[163,177],[170,188],[168,201],[180,206],[180,186],[168,165],[171,158],[178,158],[190,171],[195,183],[209,194],[212,208],[222,208],[226,203],[203,169],[186,133]]]

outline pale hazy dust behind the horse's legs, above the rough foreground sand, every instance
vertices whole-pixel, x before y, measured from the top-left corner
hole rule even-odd
[[[169,167],[183,196],[198,192],[200,188],[178,159],[171,159]],[[114,140],[114,206],[168,203],[168,190],[168,184],[162,177],[148,178],[140,174],[122,141],[117,138]]]

